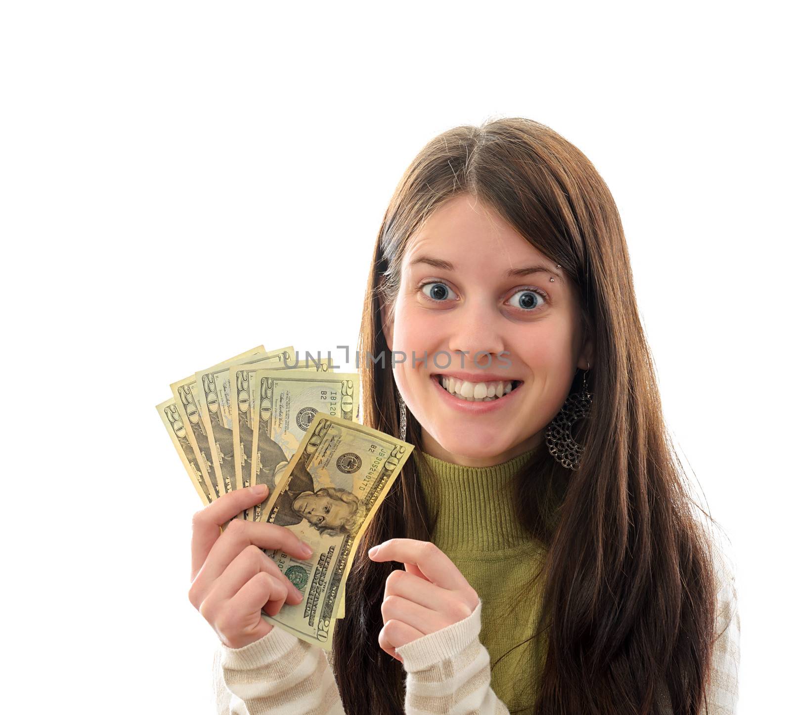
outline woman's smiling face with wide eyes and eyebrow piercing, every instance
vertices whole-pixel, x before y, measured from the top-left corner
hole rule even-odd
[[[535,266],[546,270],[517,274]],[[563,273],[467,194],[411,236],[392,323],[388,311],[383,318],[388,348],[396,361],[405,359],[395,365],[395,382],[430,455],[484,467],[543,441],[577,368],[586,369],[592,355]],[[494,396],[467,400],[443,380],[461,395]],[[509,383],[516,387],[506,393]]]

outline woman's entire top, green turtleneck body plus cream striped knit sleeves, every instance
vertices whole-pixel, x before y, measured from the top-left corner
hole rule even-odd
[[[508,488],[510,477],[527,462],[530,453],[482,468],[459,467],[423,456],[430,471],[424,472],[425,467],[415,460],[418,475],[430,506],[439,509],[431,539],[475,588],[481,603],[475,608],[475,618],[471,615],[396,649],[406,655],[407,712],[448,713],[449,708],[471,696],[486,712],[499,712],[501,708],[489,692],[491,687],[510,713],[519,709],[531,713],[536,694],[531,681],[543,668],[546,640],[539,638],[536,654],[530,648],[516,647],[535,633],[540,597],[539,588],[525,592],[520,584],[536,573],[545,554],[516,524]],[[434,477],[438,485],[431,487]],[[718,635],[706,697],[717,704],[717,712],[734,713],[738,699],[739,612],[732,562],[721,549],[715,554]],[[509,615],[506,611],[512,606]],[[479,632],[475,631],[478,617]],[[470,640],[475,635],[480,644]],[[484,673],[481,645],[490,659],[489,680],[478,677]],[[497,663],[512,647],[516,647],[514,651]],[[220,643],[214,660],[218,713],[261,713],[277,708],[279,712],[343,715],[337,683],[328,671],[331,653],[322,653],[316,645],[279,628],[243,648],[232,649]],[[464,683],[459,685],[460,680]],[[448,683],[449,692],[443,689]],[[523,686],[527,692],[520,697]],[[663,712],[671,712],[666,687],[660,693],[660,702]]]

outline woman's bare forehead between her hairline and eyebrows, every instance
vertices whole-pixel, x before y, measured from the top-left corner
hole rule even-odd
[[[494,209],[467,194],[448,200],[411,236],[404,270],[414,270],[411,261],[423,256],[445,259],[459,271],[478,269],[487,274],[528,263],[553,266]]]

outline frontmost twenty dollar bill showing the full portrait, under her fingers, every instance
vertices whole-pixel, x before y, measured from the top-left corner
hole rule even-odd
[[[413,445],[341,417],[318,413],[264,505],[263,520],[311,545],[300,560],[265,550],[303,593],[297,605],[261,618],[330,650],[339,596],[365,528],[411,455]]]

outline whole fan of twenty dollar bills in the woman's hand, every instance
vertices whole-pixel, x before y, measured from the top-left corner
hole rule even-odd
[[[157,412],[203,504],[266,484],[267,501],[236,518],[286,527],[313,549],[305,560],[263,549],[303,600],[261,617],[331,650],[358,543],[413,445],[360,424],[357,373],[297,361],[293,347],[255,347],[170,389]]]

